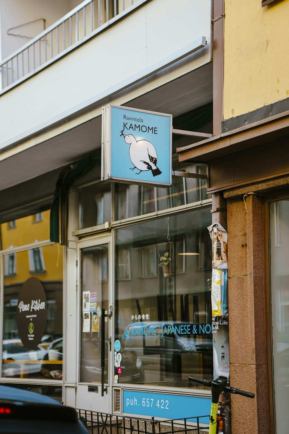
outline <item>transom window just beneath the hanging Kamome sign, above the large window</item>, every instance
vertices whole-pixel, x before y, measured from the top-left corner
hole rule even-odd
[[[174,170],[206,173],[205,164],[187,167],[173,165]],[[166,210],[208,199],[206,180],[173,176],[172,187],[115,184],[115,220]]]

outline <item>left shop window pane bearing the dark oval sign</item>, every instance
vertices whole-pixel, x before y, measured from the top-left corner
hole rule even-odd
[[[10,253],[4,256],[4,264],[2,377],[61,380],[63,247],[52,244]],[[40,301],[45,305],[38,305],[33,292],[35,280],[33,284],[28,281],[31,277],[42,285],[45,297],[40,297]],[[26,301],[22,300],[21,292],[24,284]],[[26,305],[24,319],[18,316],[24,311],[21,302]],[[42,327],[40,336],[39,327]],[[30,339],[29,348],[26,339],[28,343]]]

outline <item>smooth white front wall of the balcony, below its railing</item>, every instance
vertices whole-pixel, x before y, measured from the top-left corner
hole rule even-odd
[[[109,95],[108,89],[117,87],[118,83],[201,36],[206,36],[207,46],[182,64],[182,72],[177,72],[176,76],[211,60],[211,1],[152,0],[145,3],[78,49],[1,95],[0,148],[46,128],[55,119],[73,114],[92,100],[101,100],[104,95]],[[166,82],[163,72],[154,80],[157,83],[159,79]],[[153,88],[152,79],[147,82]]]

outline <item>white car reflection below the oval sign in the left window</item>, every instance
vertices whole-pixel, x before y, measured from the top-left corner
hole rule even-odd
[[[37,373],[40,375],[42,359],[45,354],[45,349],[40,347],[37,347],[36,350],[25,348],[18,339],[4,340],[2,345],[2,376],[15,377],[23,373],[28,373],[31,376]],[[36,360],[39,360],[39,363],[35,363]],[[33,362],[29,363],[30,361]]]

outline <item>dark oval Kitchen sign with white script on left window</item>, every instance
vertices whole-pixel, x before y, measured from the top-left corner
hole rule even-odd
[[[19,291],[17,306],[19,338],[29,350],[37,349],[45,332],[47,302],[42,283],[29,277]]]

